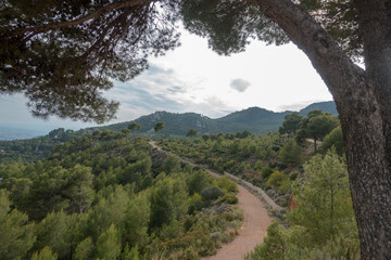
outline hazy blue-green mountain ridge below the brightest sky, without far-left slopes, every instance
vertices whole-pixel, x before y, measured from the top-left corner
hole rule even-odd
[[[338,115],[336,104],[330,102],[320,102],[308,105],[307,107],[299,112],[300,115],[306,116],[306,114],[313,109],[321,109],[323,112]],[[134,120],[141,125],[142,129],[140,133],[153,133],[153,126],[157,121],[164,121],[165,128],[162,131],[167,135],[186,135],[191,129],[195,129],[200,134],[204,133],[217,133],[217,132],[241,132],[248,130],[254,134],[263,134],[269,131],[277,131],[285,120],[285,116],[292,112],[276,113],[260,107],[250,107],[240,112],[231,113],[225,117],[212,119],[206,116],[202,116],[195,113],[168,113],[168,112],[155,112],[148,116],[139,117]],[[99,128],[89,129],[93,131],[97,129],[110,129],[114,132],[118,132],[126,128],[130,121],[109,125]]]

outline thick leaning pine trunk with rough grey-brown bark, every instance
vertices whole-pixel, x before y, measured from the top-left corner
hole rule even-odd
[[[366,70],[291,0],[248,1],[286,31],[329,88],[344,135],[362,258],[391,259],[390,1],[356,0]]]

